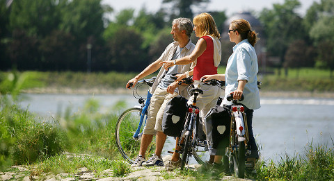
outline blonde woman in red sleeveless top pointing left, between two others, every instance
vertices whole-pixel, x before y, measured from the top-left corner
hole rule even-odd
[[[221,96],[221,89],[216,86],[204,85],[200,82],[200,78],[205,75],[217,74],[217,67],[221,61],[221,37],[218,32],[214,18],[206,12],[201,13],[193,18],[193,31],[196,37],[200,37],[195,49],[191,55],[171,61],[164,61],[164,68],[168,69],[174,64],[190,64],[197,60],[196,66],[193,68],[194,85],[203,90],[204,94],[199,94],[196,106],[200,109],[200,117],[204,118],[212,107],[216,107],[217,100]],[[177,80],[181,80],[186,75],[181,74]],[[189,74],[187,75],[189,76]],[[177,81],[175,80],[175,81]],[[193,96],[189,98],[188,104],[193,102]],[[205,126],[203,126],[205,128]],[[176,141],[177,142],[177,141]],[[177,150],[177,145],[175,150]],[[214,157],[210,157],[210,161]],[[166,164],[168,170],[175,169],[180,166],[180,153],[174,152],[171,160]]]

